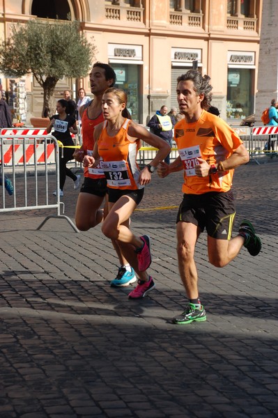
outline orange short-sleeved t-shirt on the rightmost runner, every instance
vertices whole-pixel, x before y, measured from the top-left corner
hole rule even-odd
[[[196,157],[208,164],[224,161],[242,144],[242,140],[218,116],[203,110],[199,121],[186,123],[181,119],[175,125],[175,140],[183,162],[183,192],[203,194],[207,192],[228,192],[231,189],[233,170],[210,174],[207,177],[195,175]]]

